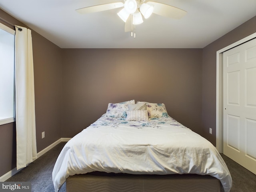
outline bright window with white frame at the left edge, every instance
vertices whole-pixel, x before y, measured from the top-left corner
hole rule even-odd
[[[14,35],[0,23],[0,125],[15,121]]]

